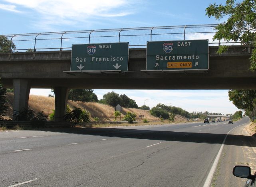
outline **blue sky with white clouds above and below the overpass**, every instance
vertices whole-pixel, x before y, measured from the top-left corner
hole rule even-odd
[[[206,16],[209,4],[224,0],[0,0],[0,35],[217,24]],[[212,35],[204,36],[212,40]],[[228,90],[94,90],[99,99],[107,92],[125,94],[137,105],[158,103],[181,107],[189,112],[235,113]],[[50,89],[31,89],[30,94],[52,94]],[[147,102],[146,99],[149,99]]]

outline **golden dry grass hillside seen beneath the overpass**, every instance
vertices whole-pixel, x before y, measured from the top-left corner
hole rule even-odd
[[[9,109],[5,113],[6,119],[12,119],[12,111],[13,111],[13,101],[14,95],[13,93],[7,93],[6,97],[9,103]],[[98,117],[100,121],[114,121],[115,116],[115,108],[109,105],[104,105],[95,102],[81,102],[81,101],[68,101],[67,103],[71,109],[81,108],[89,111],[90,118],[93,121],[95,117]],[[46,97],[42,95],[30,95],[28,105],[30,109],[34,110],[35,113],[44,111],[44,114],[49,115],[54,110],[55,99],[54,97]],[[132,112],[137,115],[137,120],[139,120],[139,115],[143,114],[143,110],[141,109],[133,109],[133,108],[122,108],[122,118],[127,112]],[[159,121],[158,117],[154,117],[149,113],[149,111],[145,111],[145,119],[148,121]],[[185,121],[184,117],[179,115],[175,115],[175,122]]]

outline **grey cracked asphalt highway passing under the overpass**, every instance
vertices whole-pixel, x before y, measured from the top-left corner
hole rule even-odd
[[[0,187],[201,187],[248,121],[0,132]]]

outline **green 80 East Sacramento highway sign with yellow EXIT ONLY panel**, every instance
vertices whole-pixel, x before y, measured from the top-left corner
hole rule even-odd
[[[147,70],[208,70],[208,40],[150,41]]]

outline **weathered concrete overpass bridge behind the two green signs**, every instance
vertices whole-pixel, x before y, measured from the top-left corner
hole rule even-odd
[[[14,88],[15,111],[28,107],[31,88],[53,88],[56,121],[65,114],[69,89],[256,89],[256,73],[248,70],[250,47],[232,46],[222,55],[216,54],[217,49],[209,46],[207,71],[147,72],[146,48],[130,46],[125,73],[70,74],[65,71],[70,70],[71,51],[34,48],[33,52],[0,53],[0,77],[6,88]]]

